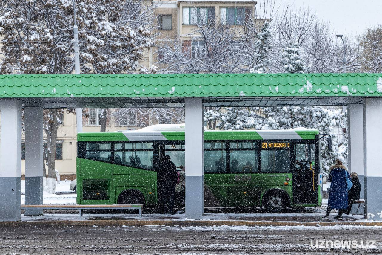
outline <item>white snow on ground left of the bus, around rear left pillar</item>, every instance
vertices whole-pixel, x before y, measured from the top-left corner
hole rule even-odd
[[[60,181],[60,184],[57,184],[56,181],[56,192],[70,192],[70,180]],[[21,181],[21,194],[25,193],[25,181]],[[76,204],[77,195],[67,194],[67,195],[55,195],[50,194],[44,191],[42,194],[42,201],[44,204]],[[25,195],[21,195],[21,204],[25,204]]]

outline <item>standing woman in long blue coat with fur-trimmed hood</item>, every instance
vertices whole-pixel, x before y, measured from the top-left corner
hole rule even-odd
[[[335,160],[335,165],[330,167],[329,182],[329,201],[328,209],[322,219],[329,219],[329,214],[332,209],[338,209],[338,215],[335,219],[342,220],[342,213],[348,207],[348,184],[346,178],[350,178],[346,167],[342,165],[340,160]]]

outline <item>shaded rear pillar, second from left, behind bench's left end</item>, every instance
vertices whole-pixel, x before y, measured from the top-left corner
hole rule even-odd
[[[25,108],[25,204],[42,204],[42,108]],[[41,215],[42,209],[25,209],[26,216]]]

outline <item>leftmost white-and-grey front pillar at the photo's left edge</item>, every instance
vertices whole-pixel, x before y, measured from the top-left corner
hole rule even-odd
[[[21,218],[21,102],[0,100],[0,221]]]

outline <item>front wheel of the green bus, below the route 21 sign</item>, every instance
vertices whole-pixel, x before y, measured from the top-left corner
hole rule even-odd
[[[270,190],[264,194],[262,205],[269,213],[284,212],[289,204],[289,196],[282,190]]]

